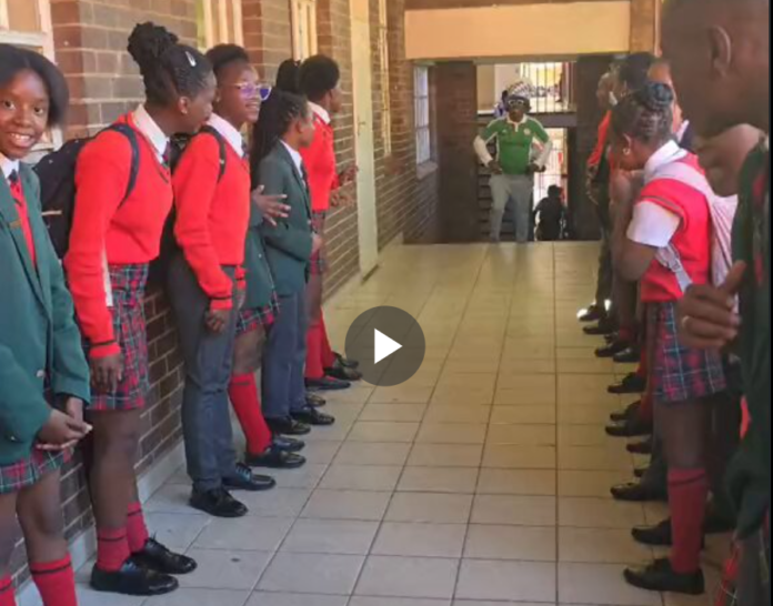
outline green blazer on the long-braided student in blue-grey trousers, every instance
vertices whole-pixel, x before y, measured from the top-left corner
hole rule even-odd
[[[260,163],[259,183],[267,195],[285,194],[290,216],[277,226],[263,223],[260,232],[274,276],[277,293],[290,296],[305,289],[311,257],[311,198],[290,153],[280,141]]]

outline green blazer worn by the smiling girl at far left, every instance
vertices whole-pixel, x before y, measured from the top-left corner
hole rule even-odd
[[[91,397],[72,299],[40,214],[40,186],[28,166],[20,174],[38,264],[0,176],[0,465],[30,454],[51,415],[47,384],[54,395]]]

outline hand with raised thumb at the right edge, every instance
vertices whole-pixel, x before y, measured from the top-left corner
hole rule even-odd
[[[687,347],[722,350],[739,335],[741,317],[735,313],[735,295],[741,289],[746,264],[730,270],[722,286],[691,286],[679,303],[679,337]]]

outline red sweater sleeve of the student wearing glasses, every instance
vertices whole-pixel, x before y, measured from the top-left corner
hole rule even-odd
[[[210,235],[210,212],[220,175],[220,147],[213,137],[194,138],[174,171],[174,238],[201,290],[220,310],[232,307],[233,282],[222,270]]]

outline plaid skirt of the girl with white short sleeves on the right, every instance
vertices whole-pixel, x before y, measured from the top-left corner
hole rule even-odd
[[[650,303],[646,317],[656,402],[676,404],[726,388],[719,352],[685,347],[677,337],[676,303]]]

